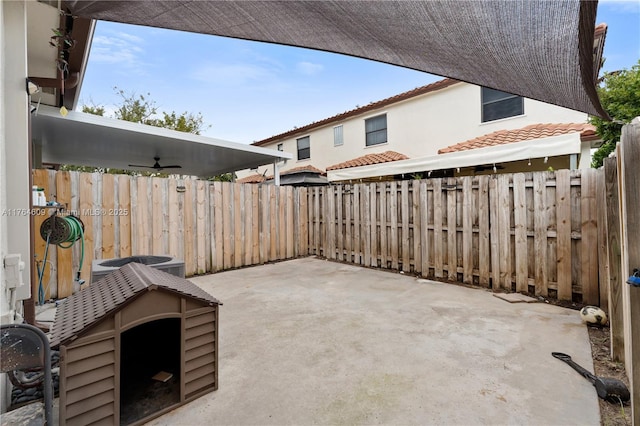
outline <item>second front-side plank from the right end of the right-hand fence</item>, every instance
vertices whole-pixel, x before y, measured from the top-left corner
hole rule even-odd
[[[571,300],[571,182],[569,170],[556,172],[558,299]]]

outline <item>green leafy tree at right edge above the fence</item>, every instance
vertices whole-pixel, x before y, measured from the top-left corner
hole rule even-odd
[[[602,162],[615,149],[620,140],[622,126],[640,116],[640,60],[630,70],[608,72],[602,77],[598,95],[603,108],[613,121],[590,117],[602,146],[593,154],[591,167],[602,167]]]

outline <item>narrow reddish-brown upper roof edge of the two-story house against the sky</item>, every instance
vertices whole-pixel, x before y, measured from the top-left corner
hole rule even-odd
[[[322,126],[326,126],[328,124],[337,122],[337,121],[342,121],[345,120],[347,118],[353,117],[355,115],[359,115],[362,113],[365,113],[367,111],[371,111],[374,109],[378,109],[378,108],[382,108],[385,107],[387,105],[391,105],[394,104],[396,102],[400,102],[400,101],[404,101],[407,99],[411,99],[413,97],[416,96],[420,96],[420,95],[424,95],[426,93],[430,93],[430,92],[435,92],[437,90],[441,90],[444,88],[447,88],[449,86],[452,86],[456,83],[460,83],[460,81],[458,80],[454,80],[452,78],[445,78],[442,80],[438,80],[435,83],[431,83],[431,84],[427,84],[426,86],[421,86],[421,87],[417,87],[413,90],[409,90],[407,92],[403,92],[394,96],[391,96],[389,98],[386,99],[382,99],[380,101],[377,102],[372,102],[368,105],[365,105],[363,107],[359,107],[359,108],[355,108],[337,115],[334,115],[333,117],[329,117],[329,118],[325,118],[323,120],[320,121],[314,121],[311,124],[307,124],[306,126],[302,126],[302,127],[298,127],[295,128],[293,130],[289,130],[287,132],[284,133],[280,133],[278,135],[275,136],[271,136],[270,138],[267,139],[263,139],[261,141],[257,141],[252,143],[251,145],[254,146],[263,146],[263,145],[267,145],[271,142],[277,141],[277,140],[281,140],[299,133],[306,133],[311,129],[315,129],[317,127],[322,127]]]

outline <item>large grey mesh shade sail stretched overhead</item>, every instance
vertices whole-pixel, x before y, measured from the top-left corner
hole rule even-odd
[[[65,1],[81,18],[373,59],[607,117],[597,1]],[[203,52],[206,54],[206,52]]]

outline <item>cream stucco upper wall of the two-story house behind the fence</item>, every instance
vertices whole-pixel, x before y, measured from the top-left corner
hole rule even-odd
[[[288,161],[281,171],[303,165],[313,165],[324,170],[328,166],[370,153],[391,150],[410,158],[422,157],[435,155],[440,148],[497,130],[518,129],[536,123],[584,123],[587,120],[585,113],[525,99],[524,115],[482,123],[480,93],[479,86],[458,83],[343,122],[275,141],[265,148],[276,149],[279,143],[283,143],[284,151],[293,154],[294,159]],[[385,113],[388,142],[366,147],[364,121]],[[333,128],[337,125],[343,126],[344,144],[334,147]],[[311,158],[298,161],[296,139],[304,136],[310,136]],[[265,135],[266,137],[269,135]],[[260,171],[264,171],[266,167],[261,167]],[[272,171],[273,168],[269,167],[268,173]],[[241,171],[238,177],[249,174],[252,173]]]

